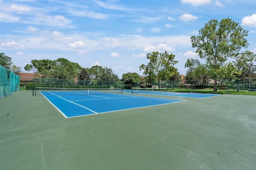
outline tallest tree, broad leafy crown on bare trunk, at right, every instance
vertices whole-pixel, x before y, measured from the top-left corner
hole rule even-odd
[[[196,47],[196,53],[201,59],[206,60],[206,67],[210,70],[210,76],[214,80],[214,92],[217,91],[217,79],[220,68],[228,57],[239,55],[242,47],[248,46],[244,38],[248,31],[229,18],[210,20],[205,27],[200,29],[198,36],[192,36],[192,47]]]

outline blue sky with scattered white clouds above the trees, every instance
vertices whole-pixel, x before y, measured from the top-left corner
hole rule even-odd
[[[255,0],[0,0],[0,53],[23,72],[32,59],[65,58],[122,78],[167,51],[185,75],[187,59],[200,59],[190,37],[225,18],[249,31],[246,50],[256,52]]]

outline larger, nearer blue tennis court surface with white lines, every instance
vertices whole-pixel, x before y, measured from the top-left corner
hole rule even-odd
[[[111,111],[171,104],[183,101],[107,93],[97,95],[86,95],[82,93],[62,94],[54,91],[42,91],[40,93],[65,117],[107,113]]]

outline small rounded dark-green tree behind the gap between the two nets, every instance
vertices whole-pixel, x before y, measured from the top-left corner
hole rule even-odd
[[[138,73],[128,72],[122,75],[122,81],[127,84],[130,88],[135,84],[141,84],[142,80]]]

